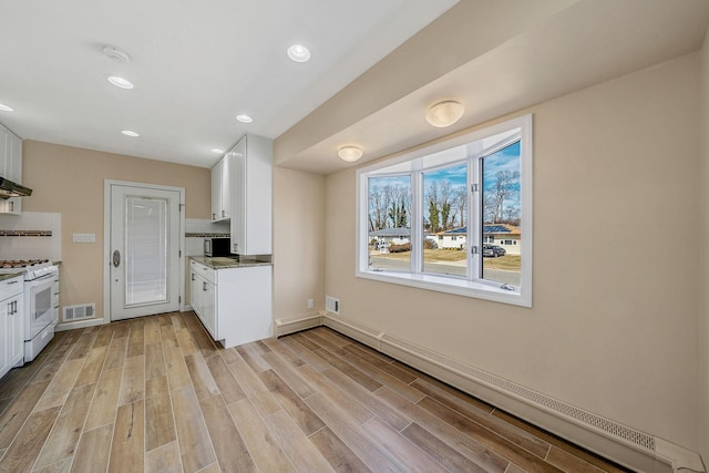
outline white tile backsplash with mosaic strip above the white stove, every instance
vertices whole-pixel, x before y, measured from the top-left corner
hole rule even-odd
[[[62,259],[62,214],[0,215],[0,259]]]

